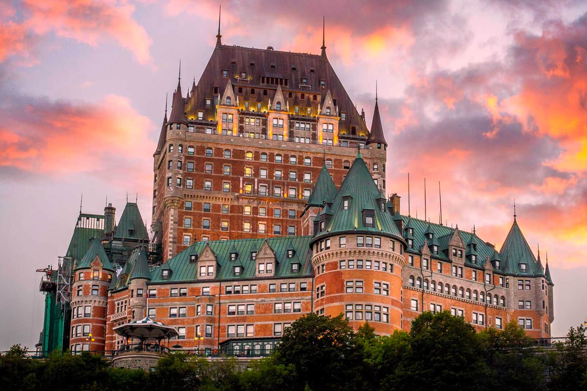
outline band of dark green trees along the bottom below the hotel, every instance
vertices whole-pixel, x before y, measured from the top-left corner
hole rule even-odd
[[[339,317],[308,314],[285,330],[274,355],[252,361],[208,360],[183,352],[161,358],[151,372],[110,367],[84,352],[31,359],[19,345],[0,356],[2,390],[150,391],[400,391],[584,390],[587,338],[571,328],[568,344],[534,346],[515,323],[482,332],[449,312],[424,312],[410,332],[356,332]],[[548,376],[545,376],[545,374]]]

